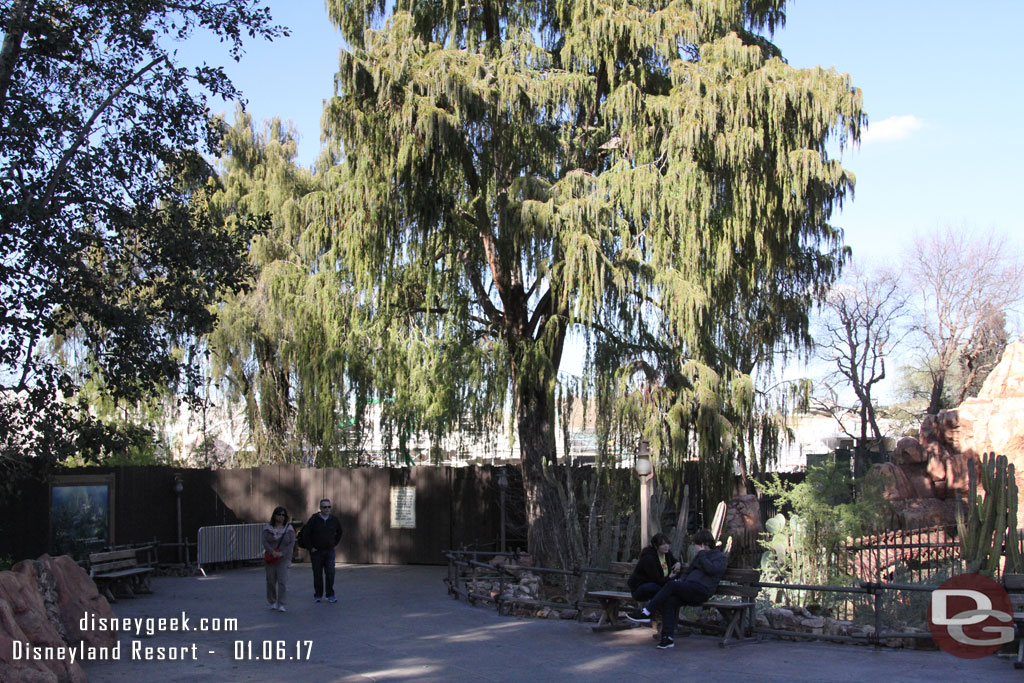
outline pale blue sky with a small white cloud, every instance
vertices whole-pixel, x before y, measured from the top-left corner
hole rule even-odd
[[[270,0],[291,36],[250,41],[228,73],[257,121],[299,131],[299,161],[319,148],[342,41],[323,0]],[[869,125],[843,163],[853,202],[834,216],[862,265],[898,262],[914,232],[952,223],[1019,236],[1024,185],[1024,0],[798,0],[774,42],[794,67],[848,73]],[[216,43],[181,46],[185,61],[227,63]],[[232,109],[223,104],[228,114]],[[1016,238],[1018,246],[1021,239]]]

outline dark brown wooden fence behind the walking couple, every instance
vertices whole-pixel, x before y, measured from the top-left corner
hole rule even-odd
[[[113,520],[105,545],[174,543],[180,501],[181,535],[195,542],[201,526],[265,521],[278,505],[304,521],[322,498],[334,502],[344,537],[338,559],[354,563],[443,564],[450,548],[485,548],[500,536],[498,469],[309,469],[271,465],[241,470],[171,467],[89,467],[27,477],[0,503],[0,558],[17,560],[50,552],[50,484],[59,477],[104,478],[111,484]],[[175,478],[181,482],[175,492]],[[509,489],[522,487],[509,468]],[[415,527],[392,527],[391,489],[415,490]],[[510,496],[521,500],[521,494]],[[522,528],[524,512],[507,510],[507,528]],[[509,547],[521,545],[515,533]]]

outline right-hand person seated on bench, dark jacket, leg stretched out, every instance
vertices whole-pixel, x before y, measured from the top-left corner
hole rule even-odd
[[[711,531],[700,529],[694,533],[693,546],[697,554],[683,578],[670,581],[646,605],[627,614],[631,622],[650,624],[650,615],[662,610],[662,640],[657,644],[660,649],[675,646],[679,607],[707,602],[718,590],[718,583],[725,574],[728,558],[715,548],[715,537]]]

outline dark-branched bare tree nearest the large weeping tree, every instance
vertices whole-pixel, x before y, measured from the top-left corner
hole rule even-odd
[[[871,438],[882,438],[872,391],[886,379],[886,357],[906,334],[902,324],[906,308],[907,297],[899,275],[885,269],[865,272],[853,268],[825,300],[822,334],[817,342],[819,355],[834,370],[824,384],[833,407],[840,385],[853,390],[860,415],[861,445],[867,443],[868,429]]]

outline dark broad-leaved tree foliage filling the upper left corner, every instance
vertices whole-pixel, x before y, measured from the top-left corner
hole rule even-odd
[[[258,228],[207,201],[207,100],[238,93],[172,43],[207,31],[238,56],[281,30],[254,0],[3,0],[0,29],[0,449],[121,452],[132,435],[80,388],[132,405],[177,386]],[[74,368],[47,351],[68,343]]]

